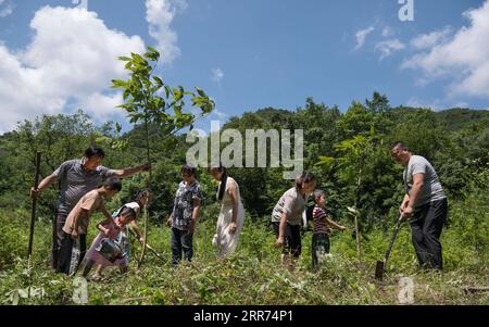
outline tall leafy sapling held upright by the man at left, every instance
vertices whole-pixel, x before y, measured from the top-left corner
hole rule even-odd
[[[165,142],[166,149],[175,142],[173,137],[178,130],[190,126],[197,117],[190,112],[184,112],[186,97],[190,97],[191,105],[201,110],[200,117],[209,114],[214,109],[214,101],[205,92],[196,88],[197,93],[185,91],[183,86],[171,88],[155,74],[155,67],[160,53],[148,47],[146,53],[130,53],[129,56],[120,56],[125,62],[125,68],[129,71],[129,79],[113,79],[112,88],[122,89],[125,103],[118,105],[124,109],[134,124],[142,124],[145,128],[145,143],[147,162],[151,163],[150,128],[156,126],[163,136],[168,136]],[[172,112],[173,111],[173,112]],[[151,187],[151,171],[148,185]],[[148,211],[145,206],[145,243],[138,266],[142,263],[146,250]]]

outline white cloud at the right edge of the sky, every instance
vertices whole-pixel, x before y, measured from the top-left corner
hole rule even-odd
[[[425,52],[406,60],[401,68],[421,70],[429,80],[450,78],[449,96],[489,98],[489,0],[464,16],[469,21],[468,27],[460,28],[449,40],[439,38]]]

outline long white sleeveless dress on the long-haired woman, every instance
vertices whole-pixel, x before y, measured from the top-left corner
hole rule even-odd
[[[238,225],[238,228],[235,234],[231,234],[229,231],[233,218],[233,201],[229,194],[227,193],[227,189],[231,184],[236,185],[236,190],[238,193],[238,216],[236,221],[236,225]],[[243,222],[244,222],[244,207],[241,202],[239,186],[235,179],[233,179],[231,177],[227,177],[226,191],[224,192],[221,212],[217,218],[217,229],[212,240],[212,244],[214,247],[217,247],[217,259],[226,257],[233,254],[233,252],[235,252],[236,247],[238,246],[239,234],[241,232]]]

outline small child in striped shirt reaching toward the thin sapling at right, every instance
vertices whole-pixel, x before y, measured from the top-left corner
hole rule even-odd
[[[313,238],[312,238],[312,260],[313,267],[315,271],[319,268],[326,254],[329,253],[329,235],[331,234],[331,228],[343,231],[346,227],[338,225],[328,218],[325,210],[326,194],[322,190],[315,190],[314,197],[314,210],[313,210]]]

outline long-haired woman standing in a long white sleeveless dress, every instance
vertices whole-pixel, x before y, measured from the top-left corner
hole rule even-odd
[[[226,175],[226,168],[222,165],[210,167],[209,173],[220,181],[217,200],[222,205],[212,244],[217,248],[217,259],[223,259],[233,254],[238,246],[244,221],[244,209],[239,186],[234,178]]]

